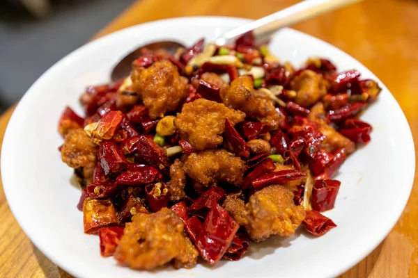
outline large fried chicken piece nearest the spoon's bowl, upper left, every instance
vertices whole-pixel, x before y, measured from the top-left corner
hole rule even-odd
[[[141,94],[151,119],[175,111],[187,98],[187,79],[178,74],[169,60],[155,62],[147,69],[139,67],[134,72],[134,89]]]

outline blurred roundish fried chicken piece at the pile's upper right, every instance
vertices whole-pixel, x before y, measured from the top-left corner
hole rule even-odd
[[[309,108],[327,94],[330,83],[312,70],[304,70],[289,83],[291,90],[296,91],[295,102]]]

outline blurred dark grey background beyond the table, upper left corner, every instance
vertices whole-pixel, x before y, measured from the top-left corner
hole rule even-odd
[[[0,113],[135,0],[0,0]]]

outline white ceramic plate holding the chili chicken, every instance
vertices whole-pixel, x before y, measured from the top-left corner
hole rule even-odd
[[[77,277],[332,277],[348,270],[389,233],[408,200],[415,151],[405,116],[389,90],[362,116],[373,124],[369,145],[350,156],[340,170],[336,206],[325,213],[338,227],[314,238],[297,234],[284,241],[253,244],[238,262],[220,261],[192,270],[136,272],[100,256],[98,236],[83,233],[76,208],[79,190],[70,186],[72,169],[61,162],[56,131],[66,105],[82,113],[79,94],[86,85],[109,80],[118,58],[139,44],[172,39],[192,44],[247,22],[229,17],[188,17],[133,26],[77,49],[43,74],[15,109],[1,154],[8,204],[32,242]],[[347,40],[350,40],[349,36]],[[285,28],[270,49],[282,60],[302,64],[309,56],[330,58],[339,70],[357,69],[377,79],[354,58],[309,35]]]

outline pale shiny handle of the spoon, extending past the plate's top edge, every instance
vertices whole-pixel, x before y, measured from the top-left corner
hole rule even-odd
[[[216,44],[226,44],[232,38],[238,37],[248,31],[254,31],[256,38],[262,38],[277,31],[279,28],[296,24],[304,20],[343,8],[352,3],[363,0],[305,0],[293,6],[280,10],[261,19],[234,28],[216,39]]]

